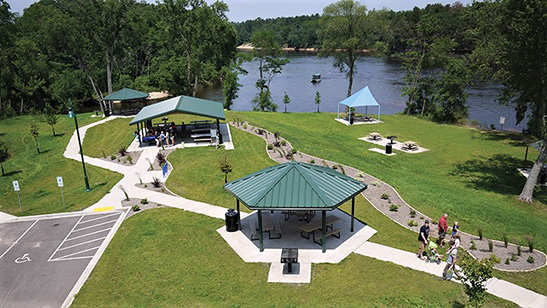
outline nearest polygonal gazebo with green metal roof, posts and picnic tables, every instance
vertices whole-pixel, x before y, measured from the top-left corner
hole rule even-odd
[[[316,211],[321,212],[321,223],[315,227],[314,223],[304,223],[298,227],[301,234],[310,234],[315,231],[321,232],[321,235],[313,235],[314,241],[321,244],[323,252],[326,251],[326,238],[337,232],[333,228],[334,216],[327,216],[328,211],[337,209],[340,205],[351,200],[351,232],[354,232],[354,210],[355,197],[367,188],[363,182],[346,176],[336,170],[328,167],[317,166],[300,162],[288,162],[281,165],[271,166],[250,175],[244,176],[238,180],[229,182],[224,188],[230,192],[237,201],[237,213],[239,214],[240,203],[243,203],[251,210],[258,212],[258,240],[260,251],[264,251],[264,231],[275,232],[273,229],[267,230],[263,223],[263,213],[270,215],[270,211],[280,211],[284,213],[285,220],[291,215],[299,216],[302,214],[311,215]],[[303,216],[300,216],[301,218]],[[241,228],[241,219],[238,217],[238,226]],[[254,221],[251,229],[255,229]],[[329,233],[328,227],[331,231]],[[338,232],[340,229],[338,229]],[[255,230],[251,230],[256,232]],[[279,234],[280,235],[280,234]],[[339,234],[340,235],[340,234]],[[251,239],[253,239],[251,237]]]

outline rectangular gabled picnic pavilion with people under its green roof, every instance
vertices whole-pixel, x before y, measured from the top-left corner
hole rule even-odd
[[[180,113],[208,117],[213,120],[196,120],[180,124],[173,121],[167,123],[166,115]],[[160,117],[164,121],[163,123],[152,123],[153,119]],[[129,125],[137,125],[141,145],[144,142],[155,142],[158,139],[158,133],[168,130],[186,138],[187,142],[196,144],[205,142],[205,145],[208,145],[216,141],[219,144],[223,143],[220,120],[225,119],[222,103],[181,95],[143,107]],[[225,134],[229,135],[227,130],[228,128],[224,127]]]

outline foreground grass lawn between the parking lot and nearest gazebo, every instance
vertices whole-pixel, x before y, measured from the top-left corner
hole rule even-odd
[[[310,284],[268,283],[215,231],[222,221],[153,209],[125,221],[74,307],[462,307],[452,282],[352,254],[312,268]],[[487,306],[511,303],[488,297]]]

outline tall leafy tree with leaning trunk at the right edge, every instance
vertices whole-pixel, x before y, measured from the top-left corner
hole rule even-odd
[[[517,123],[529,112],[528,128],[543,146],[519,200],[533,202],[547,158],[547,2],[498,0],[474,3],[476,70],[503,84],[503,104],[516,107]]]

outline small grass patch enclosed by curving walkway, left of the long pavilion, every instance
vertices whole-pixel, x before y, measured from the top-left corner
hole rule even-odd
[[[131,119],[119,118],[87,130],[83,143],[85,155],[91,157],[110,157],[124,147],[128,148],[133,139],[136,126],[129,126]]]

